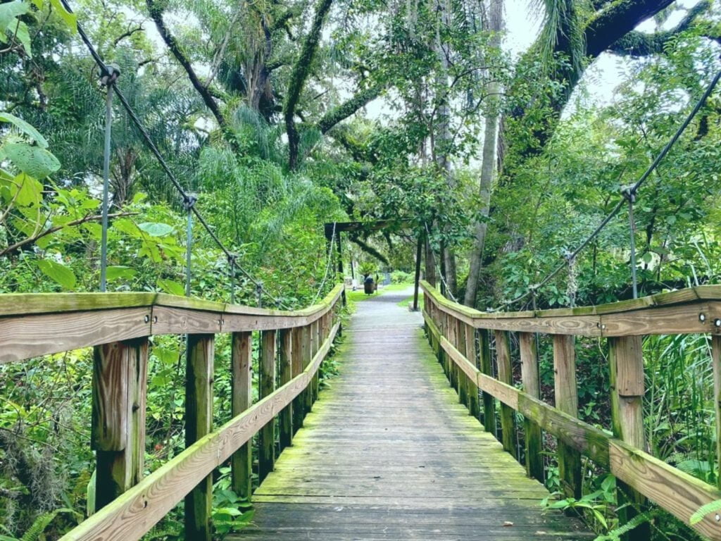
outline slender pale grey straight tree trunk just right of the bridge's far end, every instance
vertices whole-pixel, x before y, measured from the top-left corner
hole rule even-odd
[[[490,0],[488,9],[488,30],[493,32],[490,47],[500,47],[500,32],[503,30],[503,0]],[[490,79],[495,77],[491,74]],[[469,273],[466,283],[464,304],[475,307],[478,294],[478,283],[481,274],[483,248],[486,242],[488,229],[487,218],[491,204],[491,190],[493,173],[496,163],[496,138],[498,133],[498,94],[500,84],[491,82],[488,85],[488,110],[485,114],[485,133],[483,136],[483,161],[481,164],[481,178],[478,185],[481,219],[474,224],[475,239],[469,258]]]

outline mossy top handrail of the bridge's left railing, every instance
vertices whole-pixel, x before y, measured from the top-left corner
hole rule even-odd
[[[293,312],[154,293],[2,294],[0,364],[151,335],[304,327],[341,293]]]

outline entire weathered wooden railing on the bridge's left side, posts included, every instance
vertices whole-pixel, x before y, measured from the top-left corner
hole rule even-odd
[[[338,285],[297,312],[144,293],[0,296],[0,364],[94,346],[92,447],[96,509],[63,540],[137,540],[185,498],[185,536],[211,539],[212,472],[231,460],[251,496],[250,441],[260,432],[260,479],[273,470],[318,396],[318,370],[340,332]],[[252,404],[253,331],[260,331],[260,400]],[[217,333],[231,338],[232,418],[212,430]],[[151,335],[187,335],[186,449],[143,478]],[[280,387],[275,388],[276,380]]]

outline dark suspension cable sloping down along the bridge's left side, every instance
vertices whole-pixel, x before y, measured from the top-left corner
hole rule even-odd
[[[61,0],[61,2],[63,4],[63,7],[66,9],[66,11],[68,13],[73,13],[73,10],[68,5],[67,0]],[[76,26],[77,26],[77,30],[78,30],[78,35],[80,36],[81,40],[83,41],[83,43],[89,50],[90,56],[92,56],[95,63],[97,63],[97,65],[101,71],[101,75],[109,74],[110,70],[109,70],[108,66],[102,60],[102,58],[100,57],[97,50],[95,50],[94,46],[90,42],[87,34],[85,33],[85,31],[83,30],[81,25],[79,23],[77,23]],[[239,271],[241,271],[241,273],[243,273],[243,275],[249,281],[254,283],[257,288],[259,288],[263,293],[265,293],[265,295],[267,297],[272,299],[273,302],[275,302],[275,304],[277,304],[281,308],[288,309],[286,304],[284,304],[280,299],[278,299],[278,297],[275,297],[272,294],[270,294],[268,291],[266,291],[263,288],[262,282],[258,281],[256,278],[254,278],[248,271],[246,271],[242,267],[242,265],[240,265],[238,263],[237,256],[233,252],[231,252],[223,244],[223,242],[221,242],[221,239],[218,238],[216,233],[213,232],[213,230],[211,229],[211,226],[208,224],[207,221],[205,221],[205,218],[203,218],[203,215],[200,214],[198,207],[193,205],[192,203],[190,203],[190,201],[192,201],[193,196],[185,191],[185,189],[182,187],[180,182],[177,180],[177,178],[175,177],[173,172],[170,170],[170,167],[168,166],[164,157],[160,153],[158,147],[154,144],[150,134],[146,130],[145,126],[143,126],[143,123],[141,122],[140,118],[138,118],[138,115],[136,115],[135,111],[133,110],[133,107],[131,107],[131,105],[128,103],[128,100],[125,99],[125,95],[123,95],[123,92],[120,91],[120,88],[118,87],[118,82],[117,81],[110,82],[110,84],[108,85],[108,88],[110,89],[111,86],[112,86],[112,89],[115,90],[115,94],[118,96],[118,100],[120,100],[120,104],[123,105],[123,108],[125,109],[126,113],[128,113],[128,116],[131,118],[131,120],[133,120],[133,124],[135,124],[136,128],[138,128],[138,131],[140,131],[141,135],[143,136],[143,140],[145,141],[146,145],[148,146],[148,148],[151,150],[151,152],[154,154],[154,156],[158,160],[160,167],[165,172],[165,174],[169,178],[170,182],[172,182],[172,185],[177,190],[177,192],[180,193],[180,197],[182,198],[182,203],[185,206],[190,205],[190,211],[193,212],[193,214],[198,219],[200,224],[203,226],[205,231],[208,233],[208,235],[210,235],[211,239],[213,239],[213,241],[216,243],[216,245],[218,245],[218,247],[221,249],[221,251],[224,252],[224,254],[226,255],[226,258],[228,258],[229,261],[232,261],[234,263],[234,266],[236,266],[236,268],[238,268]]]

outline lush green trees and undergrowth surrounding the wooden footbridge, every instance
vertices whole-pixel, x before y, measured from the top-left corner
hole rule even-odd
[[[232,289],[255,305],[252,276],[264,304],[293,308],[334,282],[323,224],[379,219],[391,225],[344,235],[347,271],[354,261],[355,273],[410,278],[402,273],[423,235],[425,278],[480,309],[524,295],[510,308],[631,298],[625,209],[556,278],[534,284],[616,205],[721,69],[710,0],[545,0],[533,8],[544,19],[536,41],[515,55],[502,0],[71,7],[77,18],[60,0],[0,4],[2,292],[98,288],[106,89],[78,23],[118,66],[118,89],[236,255],[231,267],[196,222],[192,294],[229,302]],[[624,66],[603,103],[593,98],[599,56]],[[112,113],[108,290],[184,294],[182,198],[117,99]],[[641,295],[721,280],[720,122],[715,92],[637,194]],[[154,339],[149,470],[182,449],[183,347]],[[609,428],[607,352],[577,347],[582,416]],[[707,339],[644,347],[650,448],[715,483]],[[216,349],[222,422],[228,344]],[[540,351],[552,398],[548,345]],[[84,515],[91,374],[88,351],[1,369],[0,539],[56,538]],[[593,508],[588,518],[606,534],[613,480],[585,471],[591,496],[563,504]],[[216,498],[218,535],[242,527],[249,515],[231,511],[244,510],[234,494]],[[645,518],[658,539],[694,538],[663,514]],[[171,515],[153,535],[182,537],[182,524]]]

